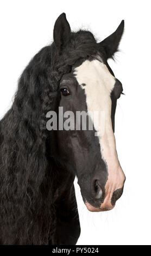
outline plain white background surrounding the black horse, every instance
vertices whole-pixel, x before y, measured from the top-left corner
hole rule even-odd
[[[53,40],[56,18],[65,12],[71,29],[89,29],[98,40],[125,20],[121,52],[109,64],[123,83],[118,100],[116,143],[127,177],[124,193],[109,212],[89,212],[75,185],[81,224],[78,245],[150,244],[150,1],[0,2],[0,117],[9,109],[17,79],[34,54]],[[76,184],[77,182],[75,182]]]

